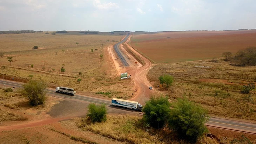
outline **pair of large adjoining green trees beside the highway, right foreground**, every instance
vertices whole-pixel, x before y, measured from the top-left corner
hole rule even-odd
[[[207,131],[207,111],[186,100],[178,100],[173,109],[170,106],[168,97],[151,97],[142,109],[143,125],[163,128],[168,124],[180,138],[195,143]]]

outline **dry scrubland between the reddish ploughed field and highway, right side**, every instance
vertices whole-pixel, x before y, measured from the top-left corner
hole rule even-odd
[[[210,68],[196,68],[209,66]],[[149,70],[148,79],[157,88],[169,95],[171,100],[187,98],[202,105],[211,115],[256,120],[256,94],[241,94],[242,85],[256,82],[256,67],[234,67],[229,62],[217,63],[207,60],[159,64]],[[161,87],[158,77],[164,74],[174,76],[174,82],[168,90]],[[215,97],[216,92],[218,92]],[[253,103],[242,100],[251,95]]]

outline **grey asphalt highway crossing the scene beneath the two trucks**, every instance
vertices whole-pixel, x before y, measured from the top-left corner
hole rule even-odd
[[[4,87],[4,80],[0,79],[0,86]],[[15,82],[15,81],[6,81],[5,80],[5,87],[6,88],[22,88],[22,83]],[[79,95],[76,94],[74,96],[69,96],[65,94],[59,94],[56,93],[54,89],[47,89],[47,93],[51,95],[66,97],[66,98],[73,98],[77,100],[92,102],[92,103],[105,103],[106,105],[112,105],[111,100],[106,100],[102,98],[97,97],[91,97],[91,96],[85,96],[85,95]],[[222,119],[222,118],[214,118],[211,117],[209,121],[206,123],[207,126],[213,126],[216,128],[223,128],[223,129],[230,129],[230,130],[236,130],[236,131],[243,131],[247,133],[254,133],[256,134],[256,124],[253,123],[245,123],[240,121],[232,121],[228,119]]]

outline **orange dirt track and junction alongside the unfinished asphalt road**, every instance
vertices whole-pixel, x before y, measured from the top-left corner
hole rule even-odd
[[[134,48],[132,48],[128,42],[130,42],[130,36],[127,39],[126,42],[124,42],[126,44],[126,46],[132,50],[136,55],[138,55],[139,57],[141,57],[141,59],[145,62],[144,66],[142,66],[142,64],[135,64],[136,59],[130,55],[123,47],[122,45],[120,45],[120,50],[123,53],[123,56],[126,56],[126,59],[128,60],[129,63],[129,67],[123,67],[122,68],[122,63],[119,59],[117,59],[117,55],[114,53],[113,47],[109,47],[109,53],[110,53],[110,57],[112,58],[112,61],[114,63],[116,72],[117,72],[117,76],[120,75],[120,73],[125,73],[127,72],[128,75],[131,75],[131,78],[133,80],[133,83],[135,85],[134,87],[134,92],[133,92],[133,97],[130,98],[130,100],[132,101],[137,101],[139,103],[141,103],[142,105],[145,104],[145,102],[147,100],[149,100],[149,97],[151,94],[153,94],[154,92],[159,92],[154,90],[154,88],[152,90],[149,89],[149,86],[151,86],[150,82],[147,79],[147,73],[149,71],[149,69],[152,67],[151,62],[144,56],[142,56],[140,53],[138,53]],[[137,91],[135,90],[137,89]]]

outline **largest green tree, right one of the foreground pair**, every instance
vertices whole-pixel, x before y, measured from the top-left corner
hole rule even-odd
[[[178,100],[169,114],[169,128],[188,142],[195,143],[207,131],[207,111],[192,102]]]

